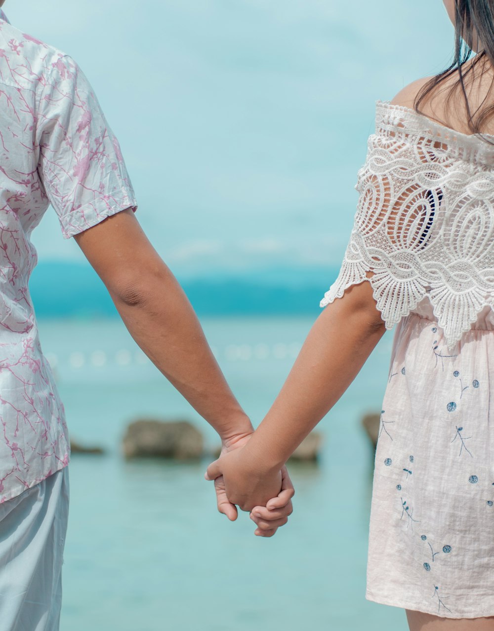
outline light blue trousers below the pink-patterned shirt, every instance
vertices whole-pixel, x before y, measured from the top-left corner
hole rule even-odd
[[[67,467],[0,504],[0,630],[58,631]]]

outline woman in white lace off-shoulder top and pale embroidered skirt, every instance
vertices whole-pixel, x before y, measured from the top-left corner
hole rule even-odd
[[[328,306],[253,438],[207,478],[224,475],[227,496],[243,508],[258,503],[385,328],[398,324],[367,598],[404,608],[412,631],[492,631],[494,0],[445,6],[454,63],[378,102]]]

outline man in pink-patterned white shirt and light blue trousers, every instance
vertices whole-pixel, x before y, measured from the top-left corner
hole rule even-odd
[[[85,76],[3,13],[0,102],[0,628],[56,631],[69,439],[28,292],[36,263],[30,234],[49,203],[133,338],[217,430],[223,451],[244,444],[252,427],[188,300],[135,219],[119,145]],[[278,472],[267,495],[272,510],[259,509],[260,536],[272,536],[291,512],[293,489],[284,473],[282,492]],[[220,482],[217,501],[220,512],[236,518]]]

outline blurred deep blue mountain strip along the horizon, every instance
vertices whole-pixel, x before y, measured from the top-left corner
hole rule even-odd
[[[314,314],[337,269],[266,269],[179,278],[200,315]],[[87,264],[40,262],[30,292],[38,317],[114,317],[116,309]]]

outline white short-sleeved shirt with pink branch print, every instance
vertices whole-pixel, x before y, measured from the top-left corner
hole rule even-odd
[[[43,357],[29,276],[30,235],[49,204],[67,239],[134,193],[117,139],[75,62],[0,11],[0,502],[68,464],[69,440]]]

